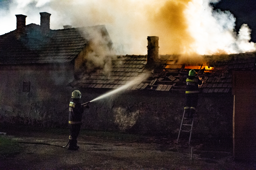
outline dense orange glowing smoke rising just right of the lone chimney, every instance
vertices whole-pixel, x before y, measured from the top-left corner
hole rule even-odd
[[[166,1],[152,14],[152,35],[159,37],[160,54],[180,54],[195,40],[188,31],[184,10],[189,0]]]

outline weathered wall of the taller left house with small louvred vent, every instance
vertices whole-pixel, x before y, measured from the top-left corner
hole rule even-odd
[[[66,126],[72,92],[66,85],[72,80],[72,65],[2,66],[1,124]],[[23,81],[30,81],[29,92],[23,92]]]

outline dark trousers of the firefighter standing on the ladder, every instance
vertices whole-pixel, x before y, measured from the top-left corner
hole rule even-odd
[[[193,114],[196,112],[196,106],[198,102],[198,93],[186,93],[185,103],[185,117],[193,118]]]

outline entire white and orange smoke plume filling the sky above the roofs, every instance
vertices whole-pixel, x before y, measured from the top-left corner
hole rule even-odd
[[[40,24],[51,13],[51,29],[63,25],[105,25],[116,54],[147,54],[147,36],[159,37],[159,54],[230,54],[255,51],[250,28],[234,30],[229,11],[213,10],[218,0],[13,0],[1,1],[0,34],[16,29],[15,14]]]

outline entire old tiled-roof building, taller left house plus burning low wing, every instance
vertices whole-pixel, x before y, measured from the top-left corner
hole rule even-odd
[[[16,15],[17,29],[0,36],[0,117],[4,124],[67,127],[71,92],[80,90],[82,102],[91,101],[83,115],[84,129],[175,137],[184,111],[186,78],[189,70],[195,69],[203,83],[199,87],[192,140],[226,144],[233,141],[234,153],[243,144],[237,129],[244,127],[248,119],[241,120],[246,115],[241,112],[242,107],[236,109],[239,100],[244,101],[236,82],[243,82],[243,73],[250,72],[252,77],[255,74],[255,52],[158,55],[158,37],[153,36],[147,38],[147,55],[103,58],[103,63],[111,61],[106,71],[93,63],[98,55],[85,57],[95,50],[90,46],[91,30],[98,30],[106,48],[111,48],[104,26],[82,31],[70,26],[50,30],[50,14],[40,15],[40,26],[26,25],[26,16]],[[239,76],[234,78],[234,72]],[[244,80],[247,81],[248,78]],[[251,85],[243,89],[254,94],[248,90],[253,88]],[[118,92],[97,99],[113,90]],[[253,97],[246,100],[254,101]],[[253,119],[251,126],[244,129],[253,128],[254,123]],[[253,141],[255,135],[251,136]]]

